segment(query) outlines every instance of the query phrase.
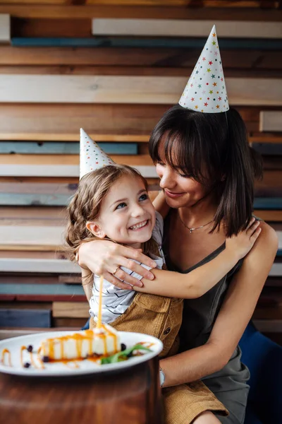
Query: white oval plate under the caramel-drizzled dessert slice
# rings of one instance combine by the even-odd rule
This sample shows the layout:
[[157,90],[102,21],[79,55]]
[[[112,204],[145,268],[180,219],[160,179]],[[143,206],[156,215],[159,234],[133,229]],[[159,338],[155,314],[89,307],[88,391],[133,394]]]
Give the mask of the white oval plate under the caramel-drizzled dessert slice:
[[[83,331],[77,331],[82,333]],[[73,331],[48,331],[46,333],[37,333],[37,334],[27,334],[26,336],[6,338],[6,340],[0,341],[0,355],[2,356],[3,349],[8,349],[11,352],[11,365],[8,365],[8,355],[4,357],[4,363],[1,363],[0,356],[0,372],[5,372],[6,374],[16,374],[16,375],[26,375],[28,377],[40,376],[40,377],[50,377],[50,376],[61,376],[61,375],[83,375],[83,374],[92,374],[97,372],[110,372],[114,370],[121,370],[123,368],[133,367],[139,363],[143,363],[154,356],[159,355],[163,349],[163,344],[158,338],[148,336],[147,334],[140,333],[129,333],[125,331],[119,331],[121,337],[121,343],[125,343],[127,348],[134,346],[137,343],[154,343],[150,346],[152,352],[145,352],[144,355],[133,356],[128,360],[125,360],[120,363],[105,364],[99,365],[94,363],[91,360],[80,360],[78,361],[78,368],[72,367],[72,363],[69,365],[63,363],[45,363],[44,369],[35,368],[30,366],[29,368],[22,367],[20,363],[20,348],[21,346],[33,346],[33,351],[37,351],[42,341],[46,338],[60,337],[67,334],[73,334]],[[145,345],[146,346],[146,345]],[[33,354],[33,359],[35,363],[37,362],[37,354]],[[30,353],[23,351],[23,363],[30,363]]]

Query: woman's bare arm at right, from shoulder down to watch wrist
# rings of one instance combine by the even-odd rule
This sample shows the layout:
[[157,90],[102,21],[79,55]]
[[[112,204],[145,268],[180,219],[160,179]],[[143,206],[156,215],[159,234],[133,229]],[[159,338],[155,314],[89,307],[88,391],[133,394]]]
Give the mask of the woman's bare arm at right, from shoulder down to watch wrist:
[[228,363],[250,321],[278,247],[276,232],[261,223],[262,234],[235,274],[209,340],[161,360],[166,375],[164,387],[192,382],[212,374]]

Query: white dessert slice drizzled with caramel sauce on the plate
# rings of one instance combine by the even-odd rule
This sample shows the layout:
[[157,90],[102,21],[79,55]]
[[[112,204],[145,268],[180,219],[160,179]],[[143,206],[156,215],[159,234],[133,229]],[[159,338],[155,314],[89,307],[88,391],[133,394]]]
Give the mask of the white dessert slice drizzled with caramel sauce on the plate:
[[47,338],[39,347],[44,362],[107,357],[121,351],[121,341],[113,327],[85,330],[61,337]]

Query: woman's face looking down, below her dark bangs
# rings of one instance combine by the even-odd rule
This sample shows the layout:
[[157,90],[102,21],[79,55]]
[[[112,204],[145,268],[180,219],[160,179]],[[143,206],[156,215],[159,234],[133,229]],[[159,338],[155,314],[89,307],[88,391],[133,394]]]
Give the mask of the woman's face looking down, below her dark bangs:
[[161,179],[160,187],[164,189],[168,206],[171,208],[194,206],[207,196],[209,193],[207,187],[170,167],[164,158],[161,160],[157,163],[156,170]]

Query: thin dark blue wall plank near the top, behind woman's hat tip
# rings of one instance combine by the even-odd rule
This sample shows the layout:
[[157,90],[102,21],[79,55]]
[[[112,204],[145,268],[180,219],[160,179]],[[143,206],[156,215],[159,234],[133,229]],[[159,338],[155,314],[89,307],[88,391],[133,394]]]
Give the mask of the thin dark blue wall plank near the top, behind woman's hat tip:
[[[209,28],[207,34],[211,30]],[[113,48],[128,49],[202,49],[207,37],[204,38],[137,38],[137,37],[97,37],[97,38],[73,38],[73,37],[12,37],[13,47],[80,47],[98,48],[105,45]],[[245,49],[245,50],[278,50],[281,49],[281,40],[266,39],[227,39],[220,40],[221,51],[223,49]]]

